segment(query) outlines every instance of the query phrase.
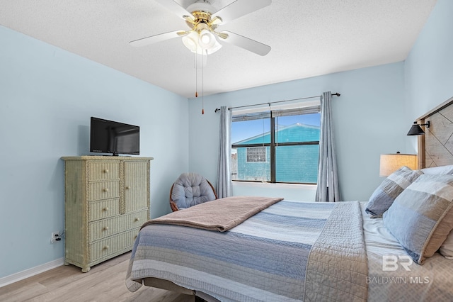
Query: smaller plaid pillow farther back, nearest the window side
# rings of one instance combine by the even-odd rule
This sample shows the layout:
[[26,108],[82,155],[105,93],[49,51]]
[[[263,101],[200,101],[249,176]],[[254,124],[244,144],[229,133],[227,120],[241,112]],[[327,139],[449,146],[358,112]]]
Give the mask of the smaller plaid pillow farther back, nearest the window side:
[[381,217],[401,192],[412,184],[423,172],[403,166],[389,175],[369,198],[365,212],[372,218]]

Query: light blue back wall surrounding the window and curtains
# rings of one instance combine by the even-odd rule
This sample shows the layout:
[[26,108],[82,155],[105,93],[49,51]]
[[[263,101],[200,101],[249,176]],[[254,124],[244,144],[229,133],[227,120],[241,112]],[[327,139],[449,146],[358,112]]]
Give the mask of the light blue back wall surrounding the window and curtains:
[[[263,72],[266,72],[263,69]],[[271,71],[269,71],[271,72]],[[379,155],[404,149],[408,124],[401,120],[404,104],[403,62],[350,72],[328,74],[253,89],[190,99],[190,169],[217,183],[217,150],[220,106],[242,106],[298,97],[316,96],[323,91],[340,92],[333,96],[335,140],[338,148],[340,189],[344,200],[368,200],[379,185]],[[410,126],[410,124],[409,124]],[[299,196],[287,186],[274,186],[273,195],[312,201],[314,191],[301,186]],[[255,185],[234,186],[234,194],[263,195]],[[290,195],[289,195],[290,194]]]

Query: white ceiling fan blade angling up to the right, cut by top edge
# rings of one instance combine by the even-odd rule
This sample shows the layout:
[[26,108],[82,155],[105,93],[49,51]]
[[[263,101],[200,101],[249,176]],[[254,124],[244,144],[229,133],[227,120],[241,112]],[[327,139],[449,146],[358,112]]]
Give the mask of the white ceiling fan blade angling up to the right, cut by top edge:
[[213,13],[212,18],[219,17],[222,19],[222,24],[224,24],[248,13],[253,13],[253,11],[258,11],[258,9],[263,9],[263,7],[270,5],[271,2],[272,0],[236,0],[220,11]]

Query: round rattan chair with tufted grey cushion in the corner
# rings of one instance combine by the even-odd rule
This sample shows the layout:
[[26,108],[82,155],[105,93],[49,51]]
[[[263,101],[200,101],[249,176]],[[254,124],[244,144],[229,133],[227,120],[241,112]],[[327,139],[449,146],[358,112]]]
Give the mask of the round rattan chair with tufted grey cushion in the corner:
[[170,206],[173,212],[214,199],[217,199],[214,186],[197,173],[180,174],[170,189]]

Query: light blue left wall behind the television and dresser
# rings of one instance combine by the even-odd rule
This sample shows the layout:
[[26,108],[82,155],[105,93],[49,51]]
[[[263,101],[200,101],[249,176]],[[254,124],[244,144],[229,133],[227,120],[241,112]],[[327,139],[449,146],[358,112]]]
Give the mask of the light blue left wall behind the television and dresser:
[[140,126],[151,217],[188,170],[188,99],[0,26],[0,278],[64,257],[62,156],[89,154],[90,116]]

